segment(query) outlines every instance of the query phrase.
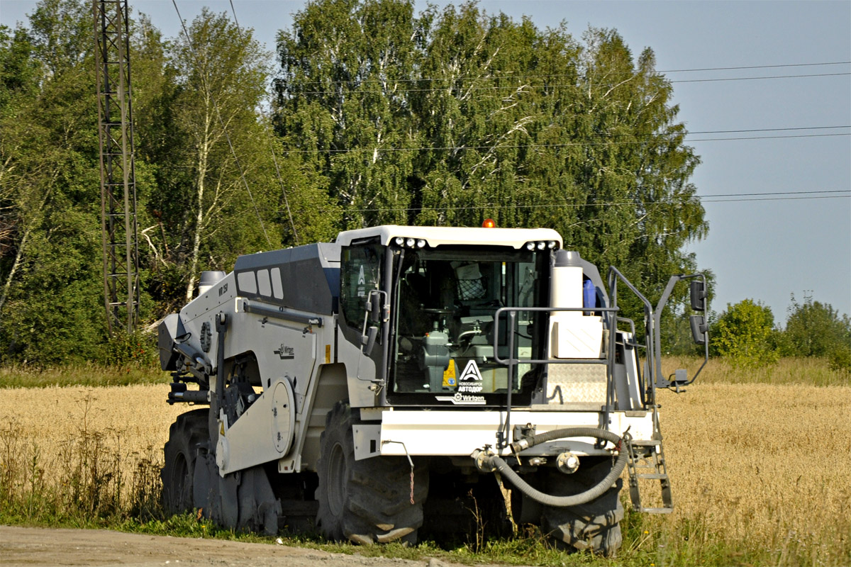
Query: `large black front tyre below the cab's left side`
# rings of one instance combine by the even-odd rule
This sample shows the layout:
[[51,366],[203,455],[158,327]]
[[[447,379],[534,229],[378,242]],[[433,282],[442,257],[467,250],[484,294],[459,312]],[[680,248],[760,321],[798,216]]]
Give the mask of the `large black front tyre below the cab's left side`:
[[403,456],[374,456],[355,461],[351,431],[359,420],[348,404],[328,412],[320,438],[317,527],[328,539],[368,545],[379,541],[414,544],[423,523],[428,471],[411,468]]

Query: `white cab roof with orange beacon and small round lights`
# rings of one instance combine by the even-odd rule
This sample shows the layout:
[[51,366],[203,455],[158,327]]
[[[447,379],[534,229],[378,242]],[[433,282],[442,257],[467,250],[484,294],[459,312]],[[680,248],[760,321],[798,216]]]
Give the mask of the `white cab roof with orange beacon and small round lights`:
[[444,244],[477,246],[505,246],[521,248],[529,241],[556,241],[562,247],[562,236],[552,229],[484,229],[477,227],[455,226],[399,226],[383,224],[368,229],[346,230],[340,232],[336,243],[348,246],[353,241],[364,241],[378,237],[383,245],[388,245],[397,236],[425,240],[429,247]]

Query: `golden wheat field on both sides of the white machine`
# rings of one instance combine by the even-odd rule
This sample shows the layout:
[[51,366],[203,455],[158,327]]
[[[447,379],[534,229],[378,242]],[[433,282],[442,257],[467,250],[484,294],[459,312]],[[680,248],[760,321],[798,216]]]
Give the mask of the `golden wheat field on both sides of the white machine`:
[[[169,424],[189,409],[165,402],[165,384],[2,392],[0,465],[37,461],[48,484],[84,439],[125,479],[140,462],[158,467]],[[851,564],[851,387],[704,383],[658,401],[676,509],[645,533],[739,542],[777,564]]]

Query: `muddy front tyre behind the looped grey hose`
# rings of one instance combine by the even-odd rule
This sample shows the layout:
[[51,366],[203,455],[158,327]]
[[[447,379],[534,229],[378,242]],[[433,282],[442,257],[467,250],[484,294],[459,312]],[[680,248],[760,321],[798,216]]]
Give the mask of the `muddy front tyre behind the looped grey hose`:
[[[612,468],[611,459],[603,459],[589,468],[574,474],[557,470],[545,473],[547,492],[554,496],[568,496],[597,485]],[[612,488],[593,502],[571,507],[545,506],[541,512],[541,529],[557,543],[568,548],[588,549],[605,557],[614,557],[620,549],[620,520],[624,507],[620,503],[623,480],[617,479]]]

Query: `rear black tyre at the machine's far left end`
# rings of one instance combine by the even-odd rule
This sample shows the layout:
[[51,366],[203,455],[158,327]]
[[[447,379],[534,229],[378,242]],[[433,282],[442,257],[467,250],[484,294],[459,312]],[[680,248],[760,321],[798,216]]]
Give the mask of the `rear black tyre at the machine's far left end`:
[[168,441],[163,452],[165,464],[160,471],[163,479],[163,509],[168,514],[188,512],[194,507],[192,479],[198,445],[208,442],[208,410],[180,414],[168,429]]

